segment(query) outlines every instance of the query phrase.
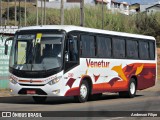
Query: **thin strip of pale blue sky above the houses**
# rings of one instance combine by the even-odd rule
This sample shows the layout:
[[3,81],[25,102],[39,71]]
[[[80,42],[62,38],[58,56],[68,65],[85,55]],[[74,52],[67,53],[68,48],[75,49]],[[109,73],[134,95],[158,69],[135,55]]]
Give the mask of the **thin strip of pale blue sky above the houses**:
[[120,1],[120,2],[127,2],[129,4],[133,4],[133,3],[141,3],[141,4],[145,4],[145,3],[153,3],[153,2],[157,2],[160,0],[116,0],[116,1]]

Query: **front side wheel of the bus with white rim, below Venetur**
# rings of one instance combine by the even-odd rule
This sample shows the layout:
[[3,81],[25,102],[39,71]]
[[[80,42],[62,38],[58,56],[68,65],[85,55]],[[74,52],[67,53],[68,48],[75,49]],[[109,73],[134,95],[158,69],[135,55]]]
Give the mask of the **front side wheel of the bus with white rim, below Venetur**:
[[80,85],[79,90],[80,90],[79,91],[80,95],[74,97],[76,102],[80,102],[80,103],[86,102],[89,96],[89,86],[86,80],[82,81],[82,84]]

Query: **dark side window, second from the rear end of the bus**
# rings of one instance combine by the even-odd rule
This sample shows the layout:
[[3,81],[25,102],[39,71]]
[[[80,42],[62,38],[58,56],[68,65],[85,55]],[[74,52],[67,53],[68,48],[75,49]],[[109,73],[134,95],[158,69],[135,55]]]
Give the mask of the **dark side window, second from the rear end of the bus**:
[[149,59],[149,46],[148,46],[148,42],[145,41],[140,41],[139,42],[139,56],[140,59]]

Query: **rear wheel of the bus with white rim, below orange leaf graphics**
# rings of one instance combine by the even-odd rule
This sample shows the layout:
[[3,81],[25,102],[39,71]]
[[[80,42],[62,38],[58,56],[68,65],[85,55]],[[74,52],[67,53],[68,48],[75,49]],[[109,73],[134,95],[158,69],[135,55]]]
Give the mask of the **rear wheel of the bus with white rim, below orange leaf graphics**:
[[119,92],[120,97],[133,98],[136,95],[136,81],[134,78],[131,78],[129,82],[128,91]]

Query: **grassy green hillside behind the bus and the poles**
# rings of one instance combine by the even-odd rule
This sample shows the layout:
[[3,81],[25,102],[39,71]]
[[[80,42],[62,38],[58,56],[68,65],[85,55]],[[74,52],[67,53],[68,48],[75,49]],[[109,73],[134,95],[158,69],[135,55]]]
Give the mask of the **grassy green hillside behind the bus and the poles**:
[[[6,6],[6,3],[4,3]],[[13,3],[12,5],[13,6]],[[24,6],[24,3],[22,3]],[[36,8],[27,4],[27,25],[36,25]],[[4,12],[4,11],[3,11]],[[80,25],[80,9],[72,8],[65,9],[65,24]],[[39,24],[41,24],[41,9],[39,8]],[[43,17],[44,18],[44,17]],[[60,10],[47,9],[46,24],[60,24]],[[22,26],[24,26],[24,19],[21,19]],[[17,22],[18,24],[18,22]],[[9,25],[14,25],[14,21],[10,21]],[[102,28],[102,9],[101,6],[85,6],[85,26],[91,28]],[[129,32],[136,34],[151,35],[156,37],[157,43],[160,43],[160,13],[153,15],[146,15],[139,13],[136,15],[122,15],[118,13],[111,13],[111,11],[104,12],[104,29]],[[160,45],[159,45],[160,46]]]

